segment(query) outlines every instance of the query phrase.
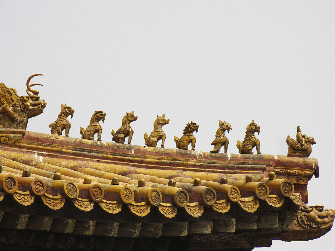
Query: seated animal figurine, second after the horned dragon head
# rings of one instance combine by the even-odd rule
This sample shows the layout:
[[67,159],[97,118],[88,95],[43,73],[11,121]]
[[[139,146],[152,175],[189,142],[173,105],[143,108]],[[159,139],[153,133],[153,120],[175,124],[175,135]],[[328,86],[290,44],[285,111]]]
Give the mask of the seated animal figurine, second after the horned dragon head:
[[94,134],[98,134],[97,141],[101,141],[101,133],[103,132],[102,126],[100,126],[99,121],[103,120],[105,123],[106,113],[103,111],[95,111],[95,113],[91,117],[91,121],[89,122],[88,127],[84,130],[80,127],[80,134],[82,135],[82,139],[86,140],[94,140]]

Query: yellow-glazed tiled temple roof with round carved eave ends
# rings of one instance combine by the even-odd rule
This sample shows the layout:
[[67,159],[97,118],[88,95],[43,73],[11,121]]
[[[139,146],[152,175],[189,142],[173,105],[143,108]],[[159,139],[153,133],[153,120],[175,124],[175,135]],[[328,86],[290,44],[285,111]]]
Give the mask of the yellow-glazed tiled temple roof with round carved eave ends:
[[[26,217],[21,226],[2,220],[0,227],[113,237],[119,246],[120,238],[150,238],[150,245],[157,244],[155,238],[188,238],[189,250],[222,249],[222,241],[242,238],[225,247],[251,250],[273,239],[318,238],[334,220],[334,210],[323,207],[329,221],[314,227],[306,220],[304,212],[321,212],[306,206],[308,181],[318,177],[313,158],[57,139],[14,129],[0,133],[0,211],[8,219]],[[106,232],[107,225],[114,232]]]

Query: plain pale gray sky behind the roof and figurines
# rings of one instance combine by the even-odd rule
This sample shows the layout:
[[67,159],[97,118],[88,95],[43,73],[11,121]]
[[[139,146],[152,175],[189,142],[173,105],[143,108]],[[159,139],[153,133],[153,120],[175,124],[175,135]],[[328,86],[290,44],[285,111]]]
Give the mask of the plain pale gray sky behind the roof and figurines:
[[[286,155],[296,126],[313,136],[320,178],[308,205],[335,207],[333,178],[334,1],[4,1],[0,82],[25,95],[27,78],[46,99],[27,130],[50,133],[61,103],[75,113],[70,137],[95,110],[107,113],[102,140],[135,111],[132,144],[144,145],[165,113],[165,147],[190,120],[196,150],[210,151],[218,119],[229,122],[229,153],[255,120],[262,154]],[[334,230],[308,242],[262,250],[333,250]],[[255,249],[258,250],[258,249]]]

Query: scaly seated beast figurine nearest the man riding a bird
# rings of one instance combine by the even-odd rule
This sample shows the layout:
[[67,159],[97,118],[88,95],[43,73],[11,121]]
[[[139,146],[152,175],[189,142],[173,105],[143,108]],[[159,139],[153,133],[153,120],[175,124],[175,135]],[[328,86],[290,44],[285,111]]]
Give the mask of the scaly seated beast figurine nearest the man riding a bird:
[[258,126],[254,120],[247,126],[246,136],[244,140],[237,141],[237,148],[240,150],[240,154],[254,154],[252,149],[256,147],[257,154],[261,154],[259,151],[260,141],[255,137],[255,133],[257,132],[259,135],[260,126]]

